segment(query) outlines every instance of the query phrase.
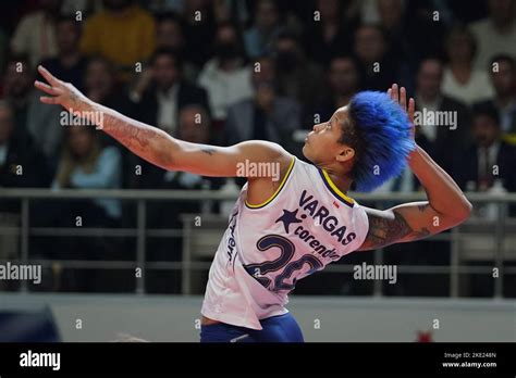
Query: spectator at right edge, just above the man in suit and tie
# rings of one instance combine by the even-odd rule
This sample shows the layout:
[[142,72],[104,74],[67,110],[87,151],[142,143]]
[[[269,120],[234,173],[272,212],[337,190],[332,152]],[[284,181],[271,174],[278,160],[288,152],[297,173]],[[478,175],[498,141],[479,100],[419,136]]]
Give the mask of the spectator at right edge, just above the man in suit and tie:
[[500,128],[503,138],[511,144],[516,144],[516,61],[506,54],[493,56],[491,66],[491,83],[495,96],[486,103],[494,106],[500,116]]

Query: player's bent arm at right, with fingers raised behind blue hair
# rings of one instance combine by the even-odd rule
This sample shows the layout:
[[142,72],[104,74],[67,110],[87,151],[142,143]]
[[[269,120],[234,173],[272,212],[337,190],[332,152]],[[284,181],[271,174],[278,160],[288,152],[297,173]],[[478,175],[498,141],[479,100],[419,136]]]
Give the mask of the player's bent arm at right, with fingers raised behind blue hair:
[[[408,113],[414,125],[414,99],[406,101],[405,88],[394,85],[394,101]],[[369,232],[359,250],[372,250],[398,242],[414,241],[452,228],[469,217],[471,203],[460,188],[419,146],[410,153],[408,165],[417,176],[428,201],[405,203],[390,210],[366,209]]]

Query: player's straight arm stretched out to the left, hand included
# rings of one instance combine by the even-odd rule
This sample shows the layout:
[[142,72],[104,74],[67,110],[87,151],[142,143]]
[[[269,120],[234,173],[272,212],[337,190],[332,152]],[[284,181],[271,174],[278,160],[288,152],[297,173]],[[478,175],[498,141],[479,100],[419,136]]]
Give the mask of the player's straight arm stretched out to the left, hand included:
[[271,142],[246,141],[223,148],[179,140],[159,128],[95,103],[73,85],[59,80],[42,66],[39,66],[38,71],[48,84],[36,81],[35,86],[50,96],[41,97],[41,102],[60,104],[90,122],[101,119],[101,124],[97,126],[105,133],[138,156],[164,169],[202,176],[234,177],[242,175],[238,172],[238,163],[245,163],[246,160],[249,163],[277,162],[282,166],[290,164],[291,158],[286,151]]

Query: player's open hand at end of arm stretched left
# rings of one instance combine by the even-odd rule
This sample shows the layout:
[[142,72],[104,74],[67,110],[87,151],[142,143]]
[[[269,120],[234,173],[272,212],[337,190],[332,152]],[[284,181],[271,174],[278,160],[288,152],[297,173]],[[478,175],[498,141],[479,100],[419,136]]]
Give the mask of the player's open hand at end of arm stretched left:
[[36,80],[34,86],[50,94],[39,98],[42,103],[62,105],[69,112],[84,112],[91,108],[91,101],[72,84],[58,79],[41,65],[38,66],[38,72],[48,84]]

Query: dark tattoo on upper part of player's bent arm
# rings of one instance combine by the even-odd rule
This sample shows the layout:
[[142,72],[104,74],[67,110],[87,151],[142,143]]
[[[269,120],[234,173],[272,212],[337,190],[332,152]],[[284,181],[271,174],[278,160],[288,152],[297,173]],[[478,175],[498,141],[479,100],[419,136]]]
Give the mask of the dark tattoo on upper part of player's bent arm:
[[[419,211],[425,211],[427,205],[419,205]],[[382,248],[395,242],[417,240],[430,235],[428,228],[413,229],[404,216],[393,211],[394,218],[386,218],[374,214],[368,214],[369,231],[366,242],[368,249]]]

